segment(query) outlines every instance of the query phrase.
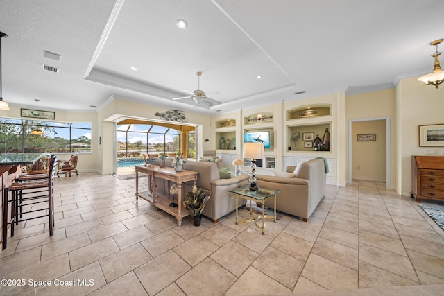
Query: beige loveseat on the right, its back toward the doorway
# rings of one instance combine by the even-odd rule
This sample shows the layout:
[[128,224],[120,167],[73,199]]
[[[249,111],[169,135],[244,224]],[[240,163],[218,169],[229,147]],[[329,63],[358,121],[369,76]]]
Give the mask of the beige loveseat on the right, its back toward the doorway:
[[[257,175],[257,186],[279,189],[276,209],[307,222],[325,195],[327,173],[328,166],[323,159],[311,159],[298,166],[287,166],[285,172],[273,176]],[[273,208],[273,200],[268,199],[265,206]]]

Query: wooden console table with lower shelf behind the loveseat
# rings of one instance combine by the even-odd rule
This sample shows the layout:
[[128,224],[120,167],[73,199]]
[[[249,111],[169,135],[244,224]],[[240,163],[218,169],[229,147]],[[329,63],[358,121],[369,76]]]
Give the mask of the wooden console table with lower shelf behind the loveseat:
[[[182,225],[182,218],[188,215],[191,215],[191,211],[185,209],[182,204],[182,183],[187,181],[194,181],[194,185],[196,185],[197,180],[197,172],[194,171],[186,171],[183,170],[181,172],[174,171],[173,168],[160,168],[159,166],[135,166],[136,169],[136,200],[138,198],[143,198],[147,200],[154,207],[162,209],[168,214],[175,216],[178,219],[178,225]],[[143,191],[139,192],[139,173],[143,173],[148,175],[148,178],[151,177],[151,188],[152,191]],[[176,182],[178,184],[178,206],[170,207],[169,204],[171,200],[164,195],[157,195],[155,193],[155,180],[156,178],[169,180],[172,182]],[[149,182],[148,182],[149,186]]]

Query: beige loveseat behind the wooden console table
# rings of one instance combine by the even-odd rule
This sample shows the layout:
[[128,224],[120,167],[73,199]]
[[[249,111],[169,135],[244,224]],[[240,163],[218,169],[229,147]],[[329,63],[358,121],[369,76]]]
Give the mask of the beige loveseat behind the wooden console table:
[[[156,164],[158,159],[156,159]],[[171,159],[165,159],[165,166],[171,167]],[[228,192],[239,186],[248,184],[249,175],[240,175],[230,179],[221,179],[219,168],[215,162],[195,162],[188,161],[183,165],[184,170],[198,172],[196,186],[210,191],[210,200],[205,204],[203,216],[206,216],[217,223],[219,218],[229,214],[236,209],[236,197],[234,193]],[[156,182],[157,192],[165,192],[162,182]],[[194,182],[186,182],[182,187],[185,192],[191,191]],[[244,200],[238,201],[238,207],[245,204]]]

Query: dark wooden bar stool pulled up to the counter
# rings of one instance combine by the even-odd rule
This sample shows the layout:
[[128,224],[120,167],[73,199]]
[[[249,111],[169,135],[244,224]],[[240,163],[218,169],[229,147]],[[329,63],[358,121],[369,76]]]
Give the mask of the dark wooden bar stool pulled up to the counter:
[[[49,235],[53,235],[54,226],[54,175],[56,174],[56,159],[55,155],[51,155],[49,162],[49,172],[46,178],[34,180],[20,180],[12,183],[9,187],[3,189],[3,249],[6,249],[8,238],[8,225],[11,225],[11,237],[14,236],[15,225],[19,222],[42,218],[49,216]],[[17,178],[18,180],[19,178]],[[11,198],[9,199],[9,192]],[[33,205],[48,203],[48,207],[33,209]],[[10,209],[10,216],[8,215],[8,208]],[[24,212],[23,206],[31,206],[31,208]],[[39,211],[44,211],[40,216],[31,216],[23,218],[26,214],[31,214]],[[10,217],[10,220],[8,220]]]

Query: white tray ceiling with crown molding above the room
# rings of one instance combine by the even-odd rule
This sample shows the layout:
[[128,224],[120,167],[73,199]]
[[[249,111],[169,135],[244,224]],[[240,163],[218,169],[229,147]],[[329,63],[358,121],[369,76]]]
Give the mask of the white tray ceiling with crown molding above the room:
[[[215,114],[384,89],[432,71],[443,15],[442,0],[1,0],[3,98],[94,111],[117,96]],[[172,100],[198,89],[197,71],[221,105]]]

